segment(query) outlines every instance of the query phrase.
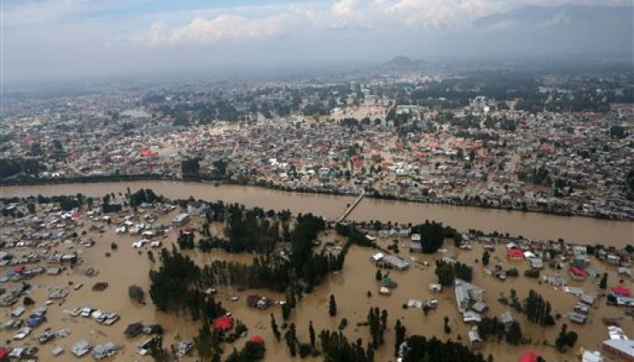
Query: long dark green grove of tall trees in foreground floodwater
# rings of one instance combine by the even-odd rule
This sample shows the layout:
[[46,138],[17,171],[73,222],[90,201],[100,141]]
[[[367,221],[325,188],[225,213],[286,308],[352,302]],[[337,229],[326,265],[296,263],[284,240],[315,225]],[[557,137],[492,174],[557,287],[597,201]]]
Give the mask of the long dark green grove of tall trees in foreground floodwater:
[[[240,288],[267,288],[288,291],[303,288],[311,291],[331,271],[339,271],[345,260],[345,252],[338,255],[312,252],[312,243],[325,227],[321,218],[311,214],[298,217],[291,237],[290,257],[269,252],[254,258],[254,262],[214,261],[202,269],[187,255],[175,247],[172,252],[160,252],[161,266],[150,271],[150,297],[159,310],[182,310],[196,304],[197,300],[183,298],[202,289],[203,286],[233,285]],[[192,234],[178,237],[181,246],[193,244]]]

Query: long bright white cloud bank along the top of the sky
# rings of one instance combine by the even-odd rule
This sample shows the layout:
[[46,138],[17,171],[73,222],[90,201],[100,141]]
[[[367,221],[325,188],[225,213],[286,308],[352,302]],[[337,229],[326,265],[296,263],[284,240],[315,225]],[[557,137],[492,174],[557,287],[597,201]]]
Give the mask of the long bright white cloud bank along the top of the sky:
[[330,8],[289,5],[274,14],[197,16],[188,24],[152,24],[134,37],[149,45],[262,40],[286,33],[353,27],[366,31],[397,28],[464,27],[478,16],[503,9],[498,0],[339,0]]

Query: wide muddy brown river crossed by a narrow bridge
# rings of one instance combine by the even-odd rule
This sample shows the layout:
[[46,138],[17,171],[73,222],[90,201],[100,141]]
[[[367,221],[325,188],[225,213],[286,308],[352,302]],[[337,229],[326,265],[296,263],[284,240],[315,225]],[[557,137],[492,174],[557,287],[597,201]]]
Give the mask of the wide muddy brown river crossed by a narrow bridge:
[[[187,198],[209,201],[223,200],[247,207],[264,209],[290,209],[293,213],[320,214],[328,219],[337,218],[354,197],[299,194],[270,190],[254,186],[212,186],[172,181],[135,181],[97,184],[66,184],[47,186],[3,186],[0,196],[25,195],[84,195],[101,196],[105,193],[151,188],[169,198]],[[634,223],[592,219],[579,216],[524,213],[484,209],[477,207],[408,203],[403,201],[365,198],[350,214],[355,221],[380,220],[392,223],[418,224],[426,219],[451,225],[457,230],[478,229],[484,232],[510,233],[527,238],[556,240],[562,238],[577,243],[602,243],[623,246],[634,243]]]

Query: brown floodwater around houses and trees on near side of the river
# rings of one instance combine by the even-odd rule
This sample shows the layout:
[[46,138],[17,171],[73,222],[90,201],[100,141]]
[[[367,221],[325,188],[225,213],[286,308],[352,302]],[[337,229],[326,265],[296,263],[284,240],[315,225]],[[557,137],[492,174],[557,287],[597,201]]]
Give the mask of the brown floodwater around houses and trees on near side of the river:
[[[309,197],[313,196],[310,195]],[[168,223],[174,214],[175,212],[164,215],[158,222]],[[197,219],[191,222],[191,224],[197,223]],[[84,229],[88,230],[90,224],[90,222],[86,222]],[[41,348],[40,356],[43,357],[43,360],[49,360],[49,358],[60,361],[77,360],[77,358],[72,357],[69,348],[80,339],[88,339],[93,344],[113,341],[122,347],[123,349],[117,357],[110,358],[110,360],[150,360],[149,357],[140,357],[136,352],[137,345],[147,337],[141,336],[130,339],[126,338],[123,334],[124,329],[126,329],[129,323],[137,321],[159,323],[164,326],[166,329],[166,344],[174,343],[174,341],[179,338],[191,339],[197,336],[197,330],[200,328],[199,322],[193,322],[184,315],[177,316],[155,310],[148,295],[148,271],[158,266],[159,263],[149,262],[147,256],[149,246],[146,246],[146,249],[132,249],[130,244],[137,241],[139,236],[115,233],[115,224],[116,223],[107,225],[103,233],[95,231],[88,232],[88,236],[93,238],[96,243],[92,247],[77,247],[77,251],[81,252],[82,263],[72,269],[66,269],[60,275],[40,275],[30,281],[36,287],[31,294],[31,297],[35,300],[35,305],[27,310],[42,306],[43,302],[47,300],[47,289],[51,287],[67,287],[70,281],[73,283],[82,282],[84,284],[83,288],[79,291],[73,291],[71,288],[70,294],[62,304],[53,303],[50,305],[47,315],[48,322],[35,329],[32,335],[26,339],[26,344],[37,346],[38,344],[34,338],[39,335],[44,328],[50,327],[53,328],[53,330],[62,328],[72,329],[72,334],[69,337],[57,338],[47,345],[39,346]],[[222,233],[223,224],[213,224],[212,229],[215,234]],[[163,239],[163,244],[170,247],[171,243],[176,243],[177,235],[178,233],[176,231],[169,233],[168,237]],[[322,233],[320,240],[322,242],[344,243],[341,237],[333,232]],[[110,243],[117,243],[119,246],[118,249],[111,250]],[[392,239],[379,238],[380,245],[385,246],[388,243],[392,243]],[[401,255],[404,257],[409,256],[407,246],[407,239],[399,240],[399,247],[402,251]],[[378,282],[375,280],[377,268],[374,263],[370,261],[370,255],[374,250],[360,246],[352,246],[346,258],[343,270],[340,273],[330,275],[320,286],[315,288],[312,293],[304,295],[303,300],[298,302],[297,308],[293,310],[289,323],[294,322],[296,324],[297,337],[300,341],[306,342],[308,341],[308,325],[311,320],[314,329],[319,332],[321,329],[337,329],[341,319],[346,318],[349,323],[348,327],[344,329],[344,333],[348,338],[352,340],[363,338],[363,340],[367,342],[370,338],[369,329],[367,327],[358,327],[357,323],[366,320],[370,307],[379,307],[380,309],[388,310],[389,329],[385,335],[386,342],[384,346],[379,348],[375,355],[375,360],[381,362],[396,360],[394,357],[393,330],[396,319],[401,319],[401,322],[407,328],[408,335],[422,334],[427,337],[437,336],[443,339],[451,338],[453,340],[461,339],[465,341],[469,326],[461,320],[458,314],[453,288],[439,293],[428,291],[428,284],[436,281],[433,267],[434,262],[443,256],[449,256],[474,266],[473,283],[485,289],[485,302],[490,307],[490,310],[485,314],[487,316],[499,316],[504,311],[511,310],[510,307],[497,301],[500,295],[508,296],[511,289],[517,291],[520,300],[523,300],[531,289],[538,291],[543,295],[545,300],[549,300],[552,303],[552,314],[560,313],[562,315],[562,320],[558,321],[555,327],[543,328],[533,325],[524,315],[513,311],[515,319],[519,320],[522,325],[524,338],[532,340],[532,343],[512,347],[499,344],[495,340],[485,342],[482,352],[485,355],[489,353],[492,354],[495,357],[495,361],[514,361],[522,351],[529,349],[545,357],[549,362],[564,361],[566,359],[575,360],[574,351],[576,351],[577,348],[600,349],[601,341],[608,338],[606,328],[601,322],[602,317],[623,315],[624,310],[606,306],[605,300],[600,299],[591,310],[588,323],[583,326],[574,325],[568,321],[566,316],[576,303],[576,297],[564,293],[559,288],[540,283],[537,280],[525,278],[524,276],[520,276],[516,279],[509,278],[507,281],[496,280],[485,272],[485,269],[480,263],[475,262],[480,259],[483,252],[478,243],[474,243],[474,249],[471,251],[457,250],[453,247],[453,243],[450,242],[447,242],[446,246],[447,252],[439,252],[431,255],[411,255],[420,263],[412,263],[412,267],[410,267],[408,271],[390,271],[390,277],[399,284],[399,287],[395,289],[390,296],[380,296],[377,292],[379,288]],[[14,251],[19,252],[18,249],[14,249]],[[106,253],[110,253],[110,256],[106,256]],[[226,252],[218,251],[209,253],[187,251],[186,253],[200,265],[216,259],[250,262],[253,258],[253,255],[250,254],[227,254]],[[424,266],[424,262],[427,262],[428,266]],[[504,269],[511,267],[517,268],[520,274],[522,274],[528,266],[526,262],[507,261],[503,245],[496,247],[491,258],[490,266],[497,262],[503,263]],[[93,277],[84,276],[82,270],[87,267],[97,269],[99,274]],[[615,267],[611,267],[605,263],[594,264],[594,267],[610,272],[610,276],[613,276],[610,279],[610,284],[616,282]],[[543,274],[552,274],[555,272],[556,271],[547,267],[543,271]],[[565,271],[560,271],[560,273],[566,274]],[[97,281],[107,281],[110,285],[105,291],[91,291],[91,286]],[[146,300],[148,300],[146,305],[141,305],[130,300],[128,297],[128,287],[132,284],[139,285],[146,291]],[[624,281],[624,284],[629,288],[634,286],[632,281]],[[601,292],[600,289],[590,281],[571,281],[570,285],[580,286],[585,291],[592,293],[600,294]],[[370,291],[371,297],[368,297],[368,291]],[[227,287],[218,288],[216,298],[217,300],[223,301],[223,305],[233,312],[236,319],[245,322],[249,329],[247,336],[261,335],[264,337],[266,341],[265,361],[276,362],[292,359],[283,340],[276,342],[270,329],[270,313],[274,313],[278,324],[281,325],[283,322],[281,310],[275,306],[269,310],[256,310],[247,307],[245,299],[251,294],[265,295],[273,300],[283,300],[283,295],[271,291],[236,291],[235,289]],[[328,299],[331,294],[335,295],[337,300],[338,314],[336,317],[330,317],[328,314]],[[234,296],[240,297],[239,300],[231,301],[231,297]],[[425,300],[426,298],[437,299],[437,310],[429,311],[427,316],[425,316],[420,309],[406,310],[402,305],[410,298],[418,300]],[[72,318],[70,316],[69,310],[84,306],[116,312],[120,315],[121,319],[109,327],[97,324],[92,319],[83,319],[81,317]],[[13,310],[13,308],[3,308],[0,310],[1,319],[8,320],[11,310]],[[446,316],[450,319],[449,325],[452,329],[449,335],[445,334],[443,330],[443,318]],[[556,352],[554,348],[543,345],[544,340],[552,345],[559,333],[562,322],[567,323],[570,329],[575,330],[579,334],[579,340],[575,350],[567,354],[560,354]],[[632,322],[630,318],[624,319],[623,329],[629,336],[634,336],[634,322]],[[2,333],[4,340],[10,339],[13,334],[9,334],[9,332]],[[246,338],[238,339],[235,342],[235,347],[241,348],[245,340]],[[20,342],[13,343],[18,345],[17,343]],[[66,351],[61,357],[53,358],[51,357],[51,351],[57,346],[63,346]],[[225,345],[224,349],[227,354],[231,351],[231,346]],[[185,360],[196,359],[196,357],[185,358]],[[299,360],[299,358],[297,358],[297,360]],[[322,359],[314,358],[313,360]]]

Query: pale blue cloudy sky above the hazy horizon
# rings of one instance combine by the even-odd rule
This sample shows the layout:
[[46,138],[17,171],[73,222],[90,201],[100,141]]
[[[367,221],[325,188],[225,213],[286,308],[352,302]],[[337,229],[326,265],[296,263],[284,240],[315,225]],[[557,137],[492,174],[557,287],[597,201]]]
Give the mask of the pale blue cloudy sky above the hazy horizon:
[[[576,15],[561,10],[543,15],[536,24],[530,24],[537,32],[530,34],[525,33],[526,24],[519,18],[493,19],[484,28],[475,26],[476,20],[491,14],[512,14],[529,5],[631,6],[630,0],[0,0],[0,3],[5,83],[267,64],[371,63],[399,54],[424,59],[513,56],[528,52],[526,46],[517,44],[524,43],[523,36],[535,38],[535,34],[546,28],[570,27],[577,21]],[[618,26],[612,27],[616,33],[608,35],[616,34],[622,43],[631,43],[631,32],[628,34],[627,28],[624,31],[622,24]],[[575,33],[578,31],[575,29]],[[529,48],[537,47],[535,52],[544,56],[551,51],[553,55],[566,51],[565,46],[562,51],[563,43],[572,44],[570,52],[587,45],[583,43],[587,40],[581,38],[563,38],[562,44],[542,49],[539,47],[543,40],[526,41]],[[609,51],[614,51],[613,48]]]

